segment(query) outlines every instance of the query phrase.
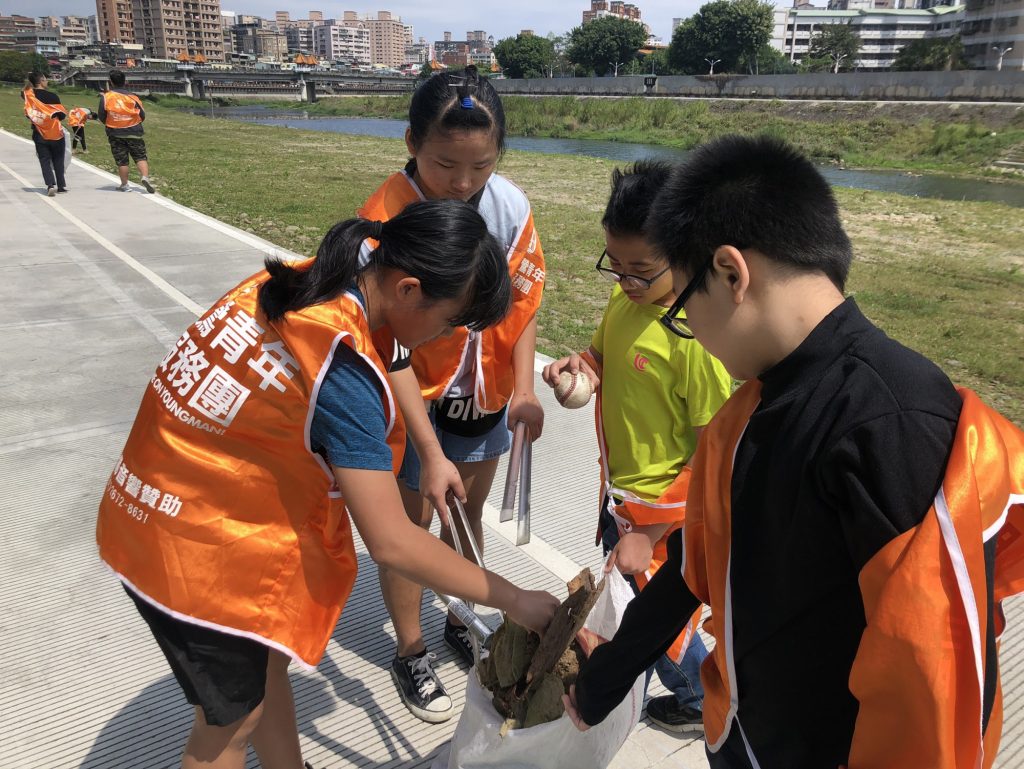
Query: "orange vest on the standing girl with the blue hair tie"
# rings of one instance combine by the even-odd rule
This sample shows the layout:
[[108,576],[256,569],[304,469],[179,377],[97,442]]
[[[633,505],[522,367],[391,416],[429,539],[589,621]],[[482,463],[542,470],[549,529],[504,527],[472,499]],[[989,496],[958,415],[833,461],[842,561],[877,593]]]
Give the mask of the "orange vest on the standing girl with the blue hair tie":
[[[359,209],[358,215],[366,219],[387,221],[410,203],[421,200],[426,200],[423,193],[413,178],[401,171],[385,179]],[[534,228],[534,214],[526,196],[508,179],[498,174],[490,177],[484,187],[479,211],[493,233],[496,222],[515,227],[511,242],[498,236],[499,242],[508,249],[512,309],[500,324],[478,333],[475,361],[464,359],[471,332],[463,328],[456,329],[450,337],[438,337],[414,349],[412,362],[426,400],[444,397],[463,368],[472,365],[476,382],[475,405],[483,413],[493,414],[501,411],[512,396],[515,384],[512,349],[541,306],[544,252]]]

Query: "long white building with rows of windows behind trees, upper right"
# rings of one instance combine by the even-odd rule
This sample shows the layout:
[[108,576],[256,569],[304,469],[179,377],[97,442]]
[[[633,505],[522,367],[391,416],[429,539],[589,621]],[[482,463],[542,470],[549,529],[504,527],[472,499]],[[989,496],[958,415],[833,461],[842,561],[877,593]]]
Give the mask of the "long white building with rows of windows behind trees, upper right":
[[776,8],[772,45],[799,63],[821,27],[850,25],[861,40],[860,52],[852,67],[862,71],[889,70],[896,54],[908,43],[957,34],[964,23],[964,10],[963,5],[927,9]]

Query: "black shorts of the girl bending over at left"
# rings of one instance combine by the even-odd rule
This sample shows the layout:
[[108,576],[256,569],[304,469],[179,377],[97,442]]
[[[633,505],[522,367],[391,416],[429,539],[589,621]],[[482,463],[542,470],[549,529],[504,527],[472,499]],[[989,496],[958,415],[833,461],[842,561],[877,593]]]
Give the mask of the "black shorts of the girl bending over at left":
[[189,704],[210,726],[227,726],[263,701],[269,649],[258,641],[171,616],[127,586]]

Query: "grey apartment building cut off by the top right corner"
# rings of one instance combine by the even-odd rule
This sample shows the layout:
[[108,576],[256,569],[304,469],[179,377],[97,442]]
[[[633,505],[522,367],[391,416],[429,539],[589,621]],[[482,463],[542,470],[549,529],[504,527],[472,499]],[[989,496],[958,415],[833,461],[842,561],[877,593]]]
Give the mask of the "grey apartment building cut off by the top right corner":
[[1024,0],[967,0],[961,39],[972,67],[1024,71]]

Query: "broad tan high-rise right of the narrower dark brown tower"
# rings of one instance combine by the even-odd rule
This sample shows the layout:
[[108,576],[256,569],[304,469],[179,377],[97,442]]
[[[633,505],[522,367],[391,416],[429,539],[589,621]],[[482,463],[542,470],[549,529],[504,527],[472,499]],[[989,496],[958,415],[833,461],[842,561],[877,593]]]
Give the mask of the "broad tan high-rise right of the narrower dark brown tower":
[[135,40],[151,56],[224,60],[220,0],[132,0],[132,14]]

